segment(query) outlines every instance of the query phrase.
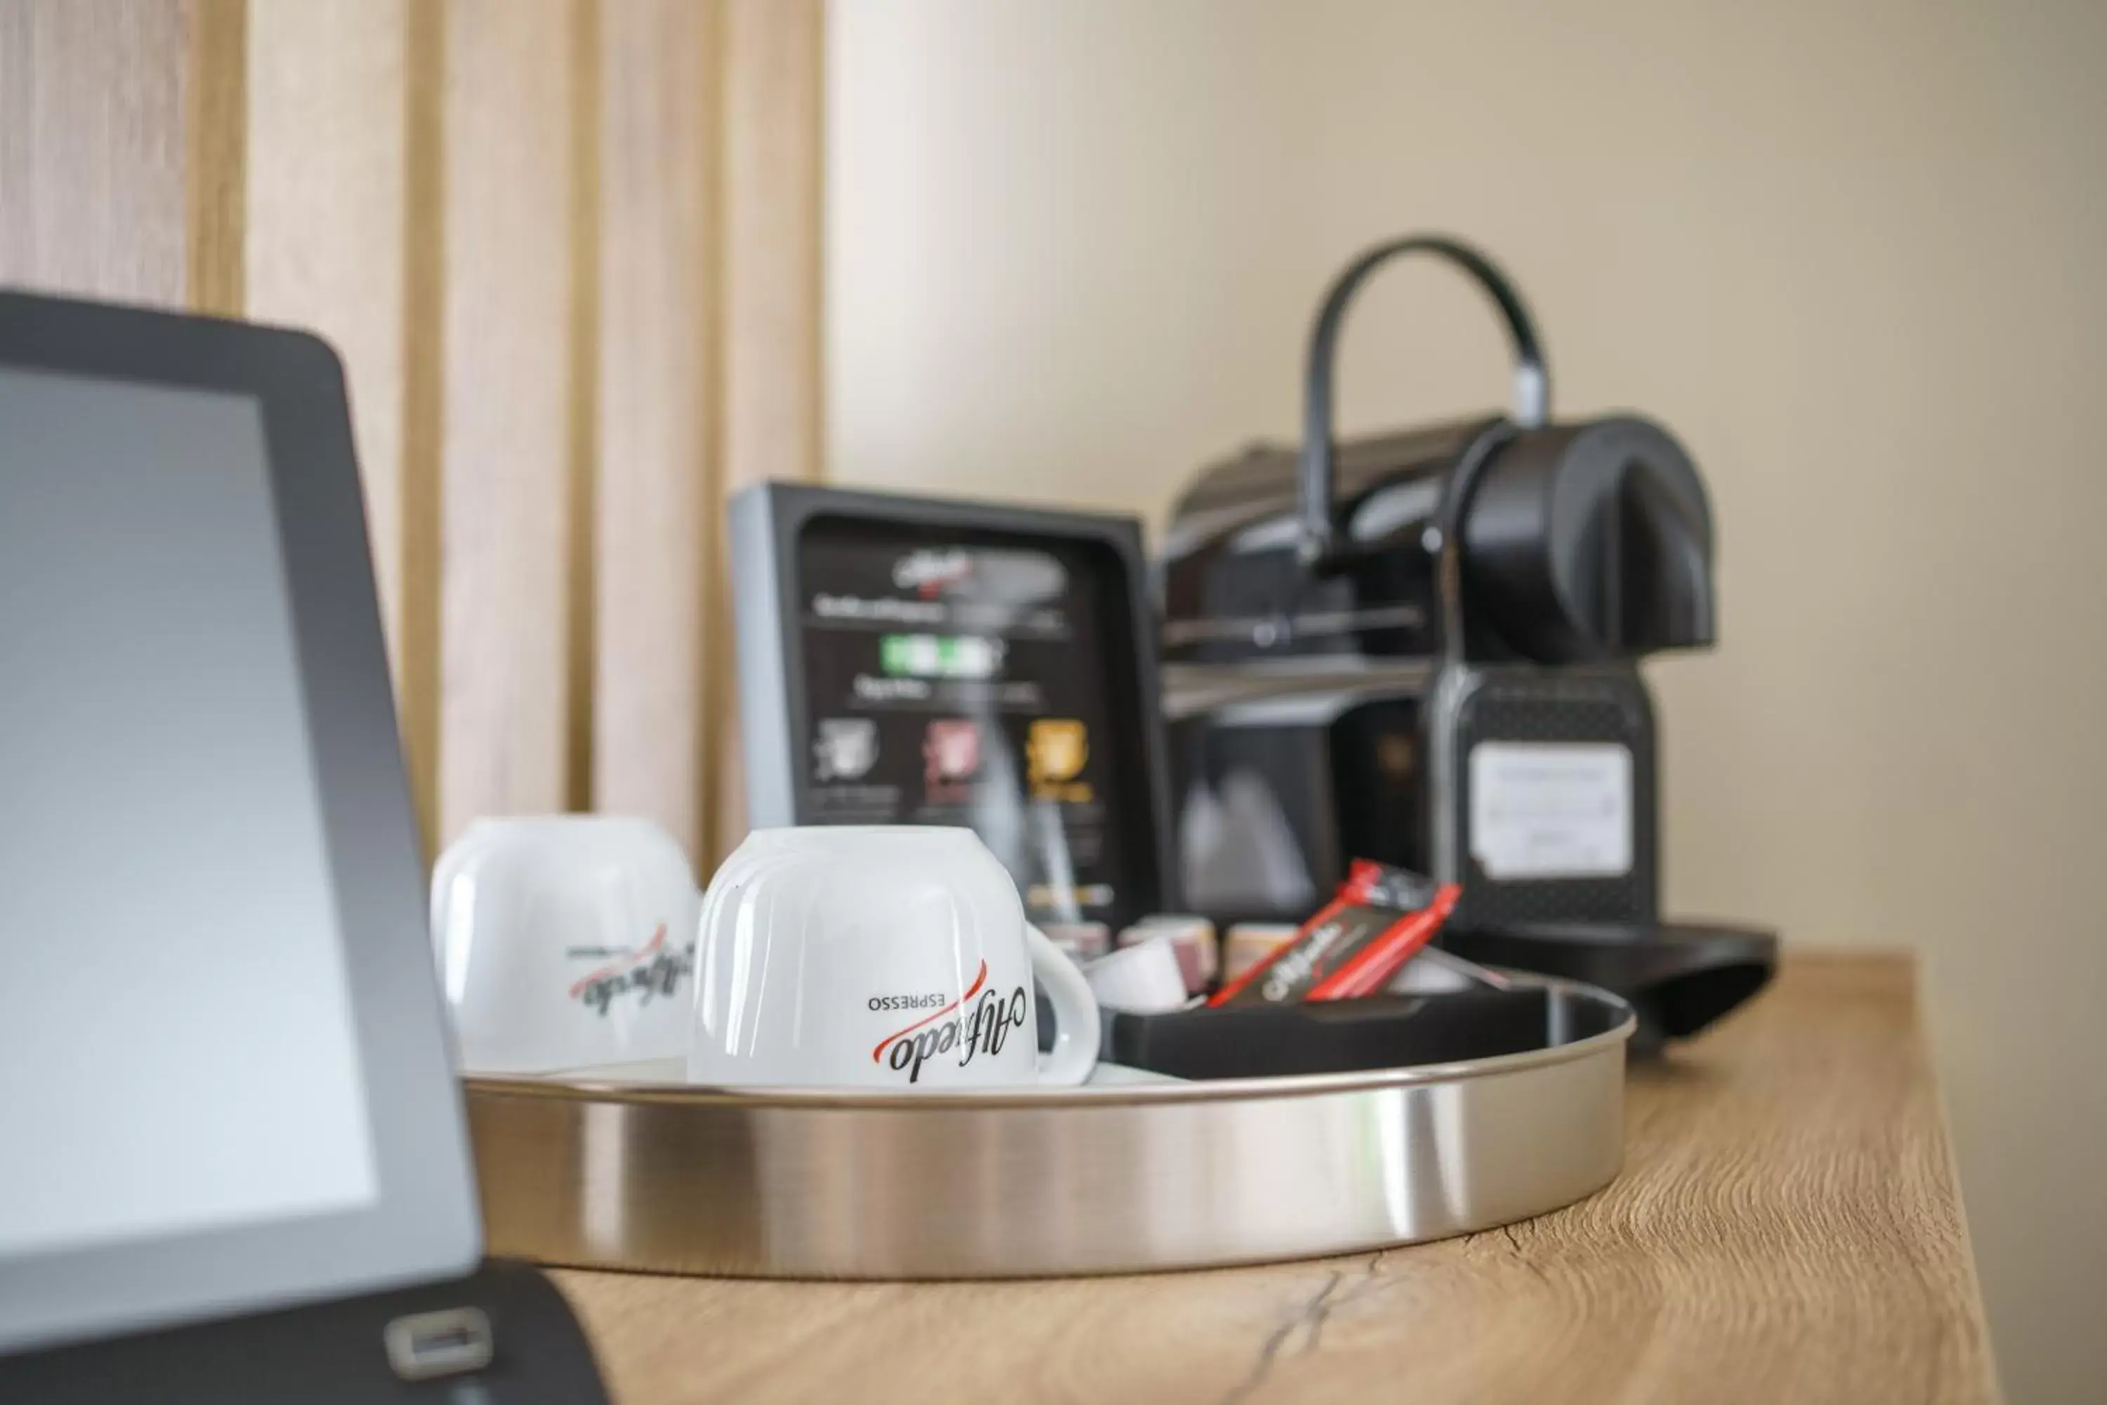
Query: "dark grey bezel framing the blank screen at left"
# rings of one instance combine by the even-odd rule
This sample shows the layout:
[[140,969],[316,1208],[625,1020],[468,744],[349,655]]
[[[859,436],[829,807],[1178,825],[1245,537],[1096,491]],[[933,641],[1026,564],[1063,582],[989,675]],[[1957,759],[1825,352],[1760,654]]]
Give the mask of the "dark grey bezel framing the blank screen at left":
[[261,409],[379,1184],[360,1211],[8,1260],[0,1352],[470,1272],[483,1222],[337,354],[297,331],[0,293],[0,369]]

